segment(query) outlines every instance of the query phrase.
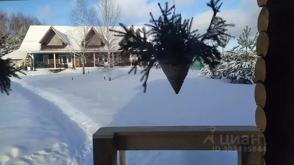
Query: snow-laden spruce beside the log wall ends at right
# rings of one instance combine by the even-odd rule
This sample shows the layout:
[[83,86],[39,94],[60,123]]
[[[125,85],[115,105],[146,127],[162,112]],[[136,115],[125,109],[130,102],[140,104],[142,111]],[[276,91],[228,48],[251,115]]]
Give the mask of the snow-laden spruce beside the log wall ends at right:
[[243,33],[237,39],[238,46],[232,50],[225,51],[219,65],[214,69],[209,69],[208,65],[204,66],[199,75],[205,75],[213,79],[228,79],[230,83],[235,84],[254,84],[255,63],[258,58],[256,55],[255,37],[250,37],[250,28],[246,26]]

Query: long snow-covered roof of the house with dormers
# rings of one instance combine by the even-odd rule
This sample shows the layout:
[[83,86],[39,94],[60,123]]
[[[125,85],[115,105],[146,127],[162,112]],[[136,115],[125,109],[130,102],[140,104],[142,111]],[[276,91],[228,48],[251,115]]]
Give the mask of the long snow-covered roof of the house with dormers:
[[[28,32],[26,33],[26,36],[21,43],[21,46],[19,48],[19,52],[26,52],[26,53],[34,53],[34,52],[68,52],[69,49],[75,48],[75,51],[78,51],[79,44],[81,44],[82,37],[81,34],[77,31],[77,29],[81,29],[81,26],[44,26],[44,25],[34,25],[30,26]],[[130,27],[128,27],[130,28]],[[134,27],[136,28],[142,28],[141,26]],[[64,43],[67,43],[67,45],[63,47],[59,46],[43,46],[41,43],[39,43],[43,37],[46,35],[46,33],[49,33],[50,29],[52,29],[54,32],[56,32],[57,35],[60,36],[64,40]],[[103,30],[105,30],[105,27],[102,26],[86,26],[87,33],[93,29],[95,33],[97,33],[99,36],[101,36],[101,40],[104,41],[105,37],[103,36]],[[146,27],[148,30],[148,27]],[[123,31],[123,28],[116,26],[114,27],[114,30],[117,31]],[[79,42],[76,42],[78,39]],[[115,41],[113,48],[115,50],[119,49],[119,41],[121,41],[121,38],[118,38],[117,41]],[[150,37],[150,39],[152,39]],[[104,42],[105,43],[105,42]],[[98,48],[98,47],[97,47]],[[89,48],[88,51],[99,51],[103,49],[104,47],[97,48]]]

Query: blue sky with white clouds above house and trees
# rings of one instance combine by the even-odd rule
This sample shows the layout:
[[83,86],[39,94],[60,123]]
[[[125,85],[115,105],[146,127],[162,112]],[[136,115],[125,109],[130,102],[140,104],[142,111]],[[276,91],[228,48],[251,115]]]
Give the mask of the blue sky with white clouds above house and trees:
[[[86,0],[89,4],[96,0]],[[127,25],[142,26],[149,21],[149,12],[159,15],[157,3],[164,4],[173,0],[117,0],[122,8],[121,22]],[[194,17],[194,28],[204,31],[211,19],[212,12],[206,6],[208,0],[175,0],[176,13],[182,13],[184,18]],[[230,32],[240,31],[248,27],[257,26],[257,18],[260,9],[256,0],[222,0],[220,16],[229,23],[235,23]],[[70,25],[70,11],[75,5],[75,0],[25,0],[25,1],[0,1],[0,10],[8,14],[21,11],[25,15],[35,16],[46,25]],[[252,32],[255,33],[256,28]],[[241,32],[234,33],[239,36]],[[230,45],[235,45],[232,40]],[[228,46],[229,48],[232,46]]]

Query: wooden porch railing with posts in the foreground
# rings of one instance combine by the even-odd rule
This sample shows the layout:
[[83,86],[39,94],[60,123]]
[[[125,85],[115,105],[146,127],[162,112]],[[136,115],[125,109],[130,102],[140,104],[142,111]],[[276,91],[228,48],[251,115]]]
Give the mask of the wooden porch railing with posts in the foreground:
[[93,134],[94,165],[125,165],[126,150],[238,151],[238,165],[263,165],[265,142],[255,126],[102,127]]

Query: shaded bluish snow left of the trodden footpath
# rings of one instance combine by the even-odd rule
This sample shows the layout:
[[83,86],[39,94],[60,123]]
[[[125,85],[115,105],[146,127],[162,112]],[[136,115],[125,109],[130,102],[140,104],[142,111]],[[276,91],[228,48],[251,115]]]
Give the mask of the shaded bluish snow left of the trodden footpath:
[[78,164],[84,132],[52,102],[16,82],[1,97],[0,164]]

